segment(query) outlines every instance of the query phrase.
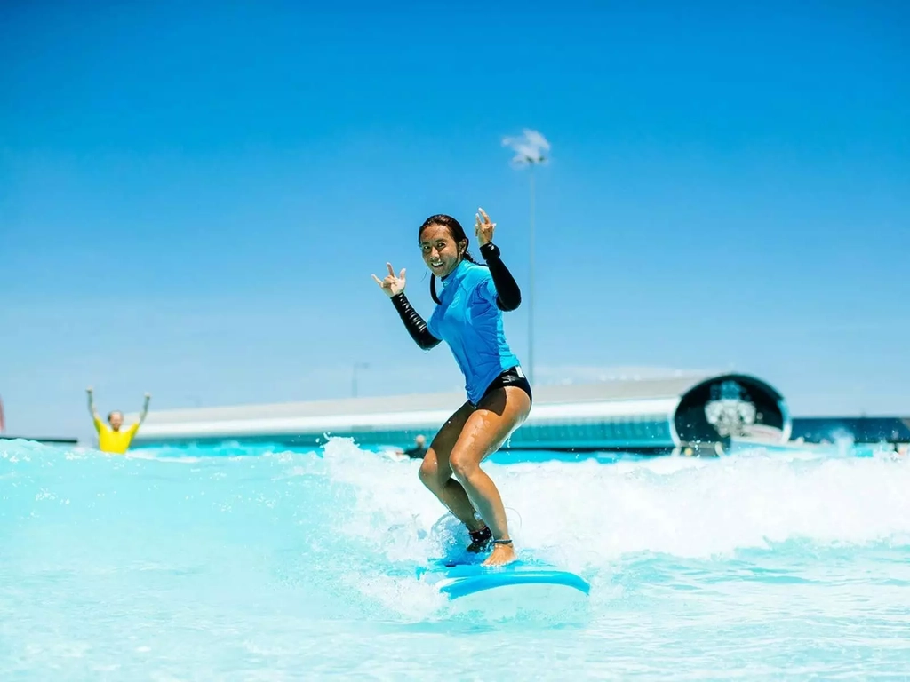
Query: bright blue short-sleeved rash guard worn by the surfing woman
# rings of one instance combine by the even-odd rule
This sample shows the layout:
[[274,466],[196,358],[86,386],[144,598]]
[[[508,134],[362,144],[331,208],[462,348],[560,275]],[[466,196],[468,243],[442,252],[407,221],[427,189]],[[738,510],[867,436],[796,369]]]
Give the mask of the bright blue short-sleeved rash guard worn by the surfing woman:
[[493,379],[519,365],[518,357],[506,343],[489,268],[462,260],[442,284],[440,305],[427,328],[449,344],[464,374],[468,399],[477,405]]

